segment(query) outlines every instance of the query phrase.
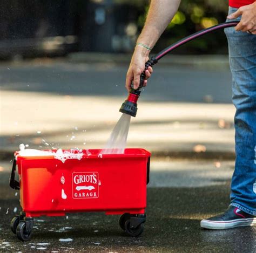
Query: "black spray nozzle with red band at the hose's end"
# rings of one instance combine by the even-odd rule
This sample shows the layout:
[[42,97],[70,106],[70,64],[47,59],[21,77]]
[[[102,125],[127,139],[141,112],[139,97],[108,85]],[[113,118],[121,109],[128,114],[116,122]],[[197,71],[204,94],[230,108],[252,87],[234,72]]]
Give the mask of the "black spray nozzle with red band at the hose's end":
[[132,117],[136,117],[136,113],[138,110],[137,107],[137,101],[140,95],[140,89],[143,87],[144,80],[145,80],[145,71],[149,68],[152,67],[154,64],[157,63],[157,59],[152,57],[150,60],[148,60],[145,64],[145,69],[143,73],[140,75],[139,79],[139,87],[137,90],[133,88],[133,83],[131,85],[131,90],[129,92],[129,95],[127,99],[123,102],[122,106],[120,107],[119,112],[126,113],[128,115],[131,115]]

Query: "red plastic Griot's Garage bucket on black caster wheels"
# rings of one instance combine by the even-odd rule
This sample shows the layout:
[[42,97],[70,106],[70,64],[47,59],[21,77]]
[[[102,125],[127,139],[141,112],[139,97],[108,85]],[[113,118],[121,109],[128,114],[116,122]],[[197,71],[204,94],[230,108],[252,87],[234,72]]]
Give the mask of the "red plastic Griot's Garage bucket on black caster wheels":
[[[40,156],[15,153],[10,186],[20,191],[22,212],[12,220],[11,229],[20,240],[30,239],[33,217],[85,211],[122,214],[119,224],[127,234],[143,232],[148,151],[131,148],[124,154],[99,155],[100,149],[91,149],[77,152],[76,159],[64,160],[51,152]],[[16,165],[19,182],[15,180]]]

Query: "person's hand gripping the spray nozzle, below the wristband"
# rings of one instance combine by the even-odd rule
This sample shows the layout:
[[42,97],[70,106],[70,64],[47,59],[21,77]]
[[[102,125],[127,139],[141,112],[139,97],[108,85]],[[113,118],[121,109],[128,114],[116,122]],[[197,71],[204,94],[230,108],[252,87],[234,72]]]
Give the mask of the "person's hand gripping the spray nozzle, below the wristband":
[[[144,49],[142,46],[137,45],[135,47],[129,69],[128,69],[127,74],[126,74],[125,87],[126,87],[127,91],[130,91],[132,81],[133,81],[133,88],[135,90],[137,90],[137,88],[139,87],[140,74],[142,74],[142,72],[144,71],[145,63],[148,60],[149,60],[149,51]],[[145,71],[146,78],[144,80],[143,86],[147,85],[147,80],[146,79],[150,78],[152,72],[153,72],[152,67],[149,67],[149,69],[147,69]]]

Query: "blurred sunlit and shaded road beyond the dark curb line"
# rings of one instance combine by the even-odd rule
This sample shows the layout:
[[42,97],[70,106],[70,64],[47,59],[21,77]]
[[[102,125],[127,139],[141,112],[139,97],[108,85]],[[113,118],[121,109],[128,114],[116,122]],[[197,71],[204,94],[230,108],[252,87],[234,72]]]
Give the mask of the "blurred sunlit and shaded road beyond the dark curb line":
[[[12,155],[20,143],[47,148],[42,140],[50,148],[103,148],[127,96],[126,71],[126,64],[104,62],[2,63],[0,156]],[[127,147],[231,159],[234,112],[228,67],[155,66],[131,120]]]

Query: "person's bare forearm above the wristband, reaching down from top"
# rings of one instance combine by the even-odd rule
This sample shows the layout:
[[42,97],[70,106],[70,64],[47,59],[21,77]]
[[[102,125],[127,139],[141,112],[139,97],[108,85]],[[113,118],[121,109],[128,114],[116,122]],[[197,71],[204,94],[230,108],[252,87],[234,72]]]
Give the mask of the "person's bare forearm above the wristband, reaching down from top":
[[153,47],[171,22],[179,8],[180,0],[151,0],[146,22],[137,43]]

